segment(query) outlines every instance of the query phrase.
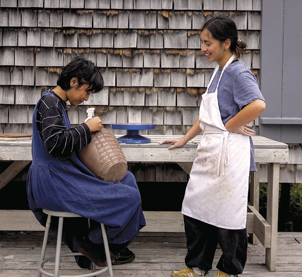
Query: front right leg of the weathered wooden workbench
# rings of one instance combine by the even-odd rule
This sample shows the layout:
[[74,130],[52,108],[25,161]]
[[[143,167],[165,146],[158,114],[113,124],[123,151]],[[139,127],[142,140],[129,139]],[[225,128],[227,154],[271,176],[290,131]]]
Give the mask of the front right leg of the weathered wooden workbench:
[[271,247],[265,248],[265,264],[270,271],[276,270],[278,237],[279,163],[268,164],[266,220],[271,225]]

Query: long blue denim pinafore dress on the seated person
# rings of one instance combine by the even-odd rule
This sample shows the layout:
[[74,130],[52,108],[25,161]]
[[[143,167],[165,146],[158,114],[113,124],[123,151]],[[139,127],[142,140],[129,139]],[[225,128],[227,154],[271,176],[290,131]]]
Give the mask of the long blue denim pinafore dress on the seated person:
[[[27,176],[29,206],[37,220],[46,225],[47,216],[42,209],[71,212],[103,223],[109,243],[131,242],[145,226],[133,174],[128,171],[121,181],[106,182],[97,178],[74,151],[68,157],[50,155],[35,124],[38,103],[33,113],[32,164]],[[70,121],[63,107],[62,111],[64,124],[69,129]],[[73,252],[78,251],[79,241],[85,234],[89,234],[94,243],[103,242],[100,224],[92,222],[89,230],[84,218],[64,220],[62,240]],[[55,234],[56,220],[53,218],[50,227]],[[80,256],[77,261],[81,267],[90,268],[88,258]]]

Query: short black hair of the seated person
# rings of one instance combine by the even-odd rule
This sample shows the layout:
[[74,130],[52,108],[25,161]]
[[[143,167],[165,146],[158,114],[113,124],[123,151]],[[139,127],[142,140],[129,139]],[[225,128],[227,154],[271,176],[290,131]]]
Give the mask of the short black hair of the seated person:
[[90,84],[89,91],[99,92],[104,87],[104,80],[97,66],[91,61],[82,56],[74,57],[61,70],[57,85],[63,90],[71,88],[70,80],[78,78],[79,85]]

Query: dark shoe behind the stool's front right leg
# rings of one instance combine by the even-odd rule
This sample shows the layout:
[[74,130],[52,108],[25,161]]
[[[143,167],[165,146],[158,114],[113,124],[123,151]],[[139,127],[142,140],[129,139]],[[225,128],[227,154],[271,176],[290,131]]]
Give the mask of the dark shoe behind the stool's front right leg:
[[[93,243],[89,240],[83,240],[79,243],[78,251],[89,258],[97,266],[107,266],[105,250],[102,245]],[[114,261],[114,255],[110,252],[111,261]]]

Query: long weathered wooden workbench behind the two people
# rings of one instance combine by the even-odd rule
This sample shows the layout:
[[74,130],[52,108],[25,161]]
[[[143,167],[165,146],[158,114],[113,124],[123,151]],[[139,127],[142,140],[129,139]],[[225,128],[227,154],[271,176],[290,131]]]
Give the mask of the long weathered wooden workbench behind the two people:
[[[118,136],[118,135],[117,135]],[[149,144],[121,144],[128,162],[176,162],[187,173],[190,172],[195,151],[200,139],[196,136],[181,148],[168,150],[168,145],[158,143],[170,135],[148,135]],[[180,137],[180,136],[175,136]],[[255,235],[266,249],[265,263],[276,270],[279,164],[288,161],[288,146],[262,136],[253,136],[255,161],[268,164],[268,191],[266,220],[259,214],[259,176],[251,176],[251,198],[248,205],[248,233]],[[0,161],[14,163],[0,175],[0,189],[12,180],[32,160],[31,141],[0,142]],[[183,232],[184,224],[180,212],[144,212],[147,226],[142,231]],[[0,211],[0,230],[44,230],[31,211]],[[256,243],[256,238],[253,238]]]

